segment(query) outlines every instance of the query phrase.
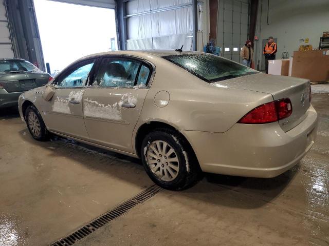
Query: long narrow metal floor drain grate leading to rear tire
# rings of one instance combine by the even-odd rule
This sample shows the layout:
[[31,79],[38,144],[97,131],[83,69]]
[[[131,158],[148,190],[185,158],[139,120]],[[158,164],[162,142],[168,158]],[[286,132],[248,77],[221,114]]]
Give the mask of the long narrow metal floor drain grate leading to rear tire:
[[161,190],[162,189],[160,187],[154,185],[154,186],[148,188],[147,190],[142,191],[141,193],[134,196],[133,198],[121,203],[116,208],[106,212],[105,214],[94,219],[93,221],[85,224],[85,226],[80,227],[77,231],[71,233],[70,235],[68,235],[64,238],[59,239],[58,241],[56,241],[50,245],[51,246],[73,245],[77,241],[88,236],[90,233],[105,226],[105,224],[107,224],[107,223],[111,222],[112,220],[125,214],[126,212],[128,212],[129,210],[134,208],[137,204],[140,204],[140,203],[146,201],[147,199],[151,198],[152,196],[154,196]]

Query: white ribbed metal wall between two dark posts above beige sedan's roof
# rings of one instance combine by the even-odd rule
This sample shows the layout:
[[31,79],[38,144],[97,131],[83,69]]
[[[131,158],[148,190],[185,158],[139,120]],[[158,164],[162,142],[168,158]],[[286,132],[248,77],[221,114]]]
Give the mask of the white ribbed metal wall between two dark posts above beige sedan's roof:
[[127,2],[127,49],[192,50],[191,0]]

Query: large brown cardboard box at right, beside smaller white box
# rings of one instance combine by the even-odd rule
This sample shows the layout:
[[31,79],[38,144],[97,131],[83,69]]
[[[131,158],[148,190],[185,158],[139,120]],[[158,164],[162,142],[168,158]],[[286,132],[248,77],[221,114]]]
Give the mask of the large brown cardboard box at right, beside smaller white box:
[[310,81],[329,80],[329,55],[326,50],[294,51],[291,76]]

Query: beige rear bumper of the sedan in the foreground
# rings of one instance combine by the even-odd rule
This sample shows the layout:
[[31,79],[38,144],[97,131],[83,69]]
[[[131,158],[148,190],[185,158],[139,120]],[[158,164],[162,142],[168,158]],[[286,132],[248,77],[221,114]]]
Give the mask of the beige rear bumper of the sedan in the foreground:
[[318,115],[312,106],[307,117],[284,132],[278,122],[235,124],[225,133],[182,131],[204,172],[270,178],[295,166],[313,146]]

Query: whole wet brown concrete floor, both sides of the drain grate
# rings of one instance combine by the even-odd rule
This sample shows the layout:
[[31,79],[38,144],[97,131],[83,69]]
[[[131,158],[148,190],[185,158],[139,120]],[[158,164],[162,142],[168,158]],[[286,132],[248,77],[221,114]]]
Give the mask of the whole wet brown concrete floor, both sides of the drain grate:
[[[272,179],[205,175],[75,245],[328,245],[329,94],[313,105],[318,138],[300,165]],[[47,245],[153,184],[139,160],[35,141],[15,114],[0,116],[0,136],[0,245]]]

